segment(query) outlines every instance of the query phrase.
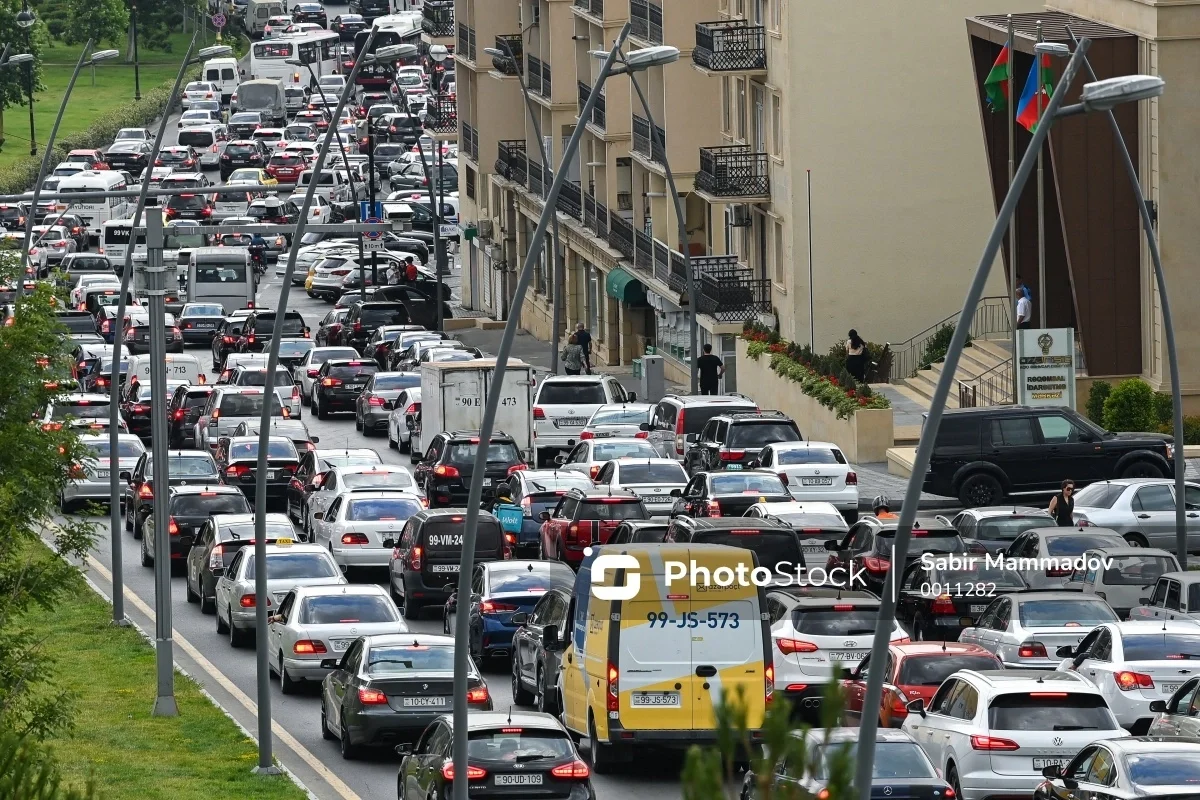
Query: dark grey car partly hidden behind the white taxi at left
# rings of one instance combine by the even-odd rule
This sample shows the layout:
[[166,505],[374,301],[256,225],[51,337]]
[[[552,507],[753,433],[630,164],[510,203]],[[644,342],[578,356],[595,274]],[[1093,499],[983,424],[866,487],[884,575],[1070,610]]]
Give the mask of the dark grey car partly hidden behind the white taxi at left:
[[[266,515],[265,530],[268,545],[280,540],[292,541],[295,536],[292,523],[280,513]],[[199,603],[202,614],[212,614],[216,610],[217,578],[233,564],[239,549],[254,543],[256,535],[253,513],[212,515],[200,523],[185,560],[184,594],[187,602]]]

